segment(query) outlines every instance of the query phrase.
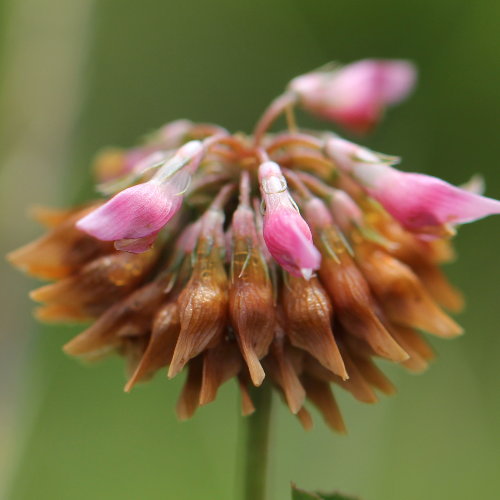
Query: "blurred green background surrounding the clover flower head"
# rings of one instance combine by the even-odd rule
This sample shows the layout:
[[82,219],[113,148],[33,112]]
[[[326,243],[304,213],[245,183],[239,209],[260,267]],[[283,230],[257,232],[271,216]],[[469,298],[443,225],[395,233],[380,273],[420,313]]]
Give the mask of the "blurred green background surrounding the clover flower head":
[[[499,18],[491,0],[1,0],[0,250],[41,233],[29,204],[90,195],[96,149],[181,117],[249,131],[291,77],[333,59],[414,60],[417,92],[365,143],[453,183],[480,172],[499,198]],[[339,393],[348,436],[317,414],[305,433],[276,404],[270,500],[291,480],[364,500],[498,498],[499,228],[456,241],[467,334],[433,342],[423,375],[387,367],[399,393],[375,406]],[[232,383],[178,423],[180,380],[126,395],[121,361],[68,359],[77,330],[37,325],[35,282],[1,266],[0,498],[238,498]]]

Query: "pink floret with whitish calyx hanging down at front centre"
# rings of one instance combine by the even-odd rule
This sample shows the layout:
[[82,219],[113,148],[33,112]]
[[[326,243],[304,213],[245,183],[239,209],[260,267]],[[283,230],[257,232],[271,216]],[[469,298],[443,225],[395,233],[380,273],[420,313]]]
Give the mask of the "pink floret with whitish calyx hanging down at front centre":
[[263,233],[269,252],[290,274],[309,279],[319,268],[321,255],[312,242],[307,222],[288,192],[278,164],[262,163],[259,182],[266,206]]

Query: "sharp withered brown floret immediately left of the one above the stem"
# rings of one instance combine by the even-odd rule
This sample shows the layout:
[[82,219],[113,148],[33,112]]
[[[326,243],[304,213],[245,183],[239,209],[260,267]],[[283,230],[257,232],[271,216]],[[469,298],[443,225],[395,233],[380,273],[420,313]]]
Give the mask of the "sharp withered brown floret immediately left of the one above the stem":
[[219,248],[202,240],[193,274],[178,299],[181,331],[168,372],[177,375],[204,349],[216,345],[227,320],[227,277]]

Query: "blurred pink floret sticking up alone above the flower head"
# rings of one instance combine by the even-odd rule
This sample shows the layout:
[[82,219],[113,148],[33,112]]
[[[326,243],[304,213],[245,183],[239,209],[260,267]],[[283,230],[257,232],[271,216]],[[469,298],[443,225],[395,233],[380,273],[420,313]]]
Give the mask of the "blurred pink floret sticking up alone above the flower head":
[[387,106],[407,97],[415,81],[415,66],[408,61],[364,59],[298,76],[289,88],[312,113],[366,132],[380,121]]

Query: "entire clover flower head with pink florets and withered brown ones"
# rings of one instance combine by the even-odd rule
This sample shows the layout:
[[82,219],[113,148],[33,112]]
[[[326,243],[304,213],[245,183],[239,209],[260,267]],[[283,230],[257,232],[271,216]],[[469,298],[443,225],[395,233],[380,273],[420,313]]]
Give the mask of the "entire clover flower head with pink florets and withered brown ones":
[[[90,321],[64,350],[118,353],[127,391],[187,370],[181,419],[235,379],[272,384],[305,428],[308,402],[345,431],[332,388],[365,403],[433,358],[422,332],[462,333],[440,265],[459,224],[500,213],[476,188],[395,168],[398,159],[331,132],[297,130],[302,106],[366,130],[412,89],[404,61],[361,61],[295,78],[252,135],[180,120],[130,150],[98,155],[104,199],[38,209],[48,232],[10,261],[54,281],[32,292],[47,321]],[[270,133],[286,112],[289,129]]]

